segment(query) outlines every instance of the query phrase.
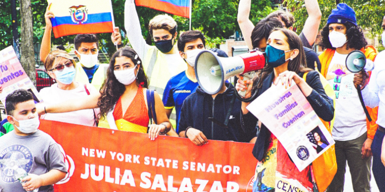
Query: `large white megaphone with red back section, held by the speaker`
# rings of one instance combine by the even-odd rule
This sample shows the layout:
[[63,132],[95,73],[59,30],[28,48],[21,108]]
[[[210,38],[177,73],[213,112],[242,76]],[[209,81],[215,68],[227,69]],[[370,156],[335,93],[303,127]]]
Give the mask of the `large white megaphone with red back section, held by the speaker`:
[[[253,77],[255,71],[265,66],[264,53],[252,50],[234,57],[218,57],[210,50],[198,54],[195,60],[195,75],[199,85],[208,94],[216,94],[222,88],[225,80],[232,76],[243,75],[244,80]],[[245,96],[245,91],[239,91]]]

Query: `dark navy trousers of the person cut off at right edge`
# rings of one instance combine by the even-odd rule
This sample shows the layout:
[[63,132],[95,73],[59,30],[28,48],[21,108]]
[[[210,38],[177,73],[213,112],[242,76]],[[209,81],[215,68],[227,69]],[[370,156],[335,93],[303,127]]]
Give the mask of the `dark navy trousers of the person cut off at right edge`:
[[372,171],[380,192],[385,192],[385,166],[381,162],[381,146],[384,135],[384,132],[377,129],[371,146],[373,153]]

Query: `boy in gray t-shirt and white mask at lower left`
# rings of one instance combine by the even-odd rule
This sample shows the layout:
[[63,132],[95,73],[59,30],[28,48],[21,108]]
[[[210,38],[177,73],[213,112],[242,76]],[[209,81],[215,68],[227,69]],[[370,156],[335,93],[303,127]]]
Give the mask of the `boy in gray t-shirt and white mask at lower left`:
[[[32,94],[19,89],[6,98],[7,119],[14,131],[0,138],[0,191],[54,191],[53,184],[65,177],[60,147],[40,125]],[[17,178],[28,174],[21,184]]]

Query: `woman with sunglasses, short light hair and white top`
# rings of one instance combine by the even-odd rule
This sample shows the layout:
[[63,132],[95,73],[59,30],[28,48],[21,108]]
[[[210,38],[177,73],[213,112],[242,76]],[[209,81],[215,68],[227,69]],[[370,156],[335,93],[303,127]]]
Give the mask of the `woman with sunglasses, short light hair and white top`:
[[[55,50],[48,54],[44,67],[48,74],[57,83],[40,91],[45,104],[52,105],[84,97],[88,94],[97,93],[90,84],[74,82],[75,60],[65,51]],[[41,119],[73,123],[85,126],[97,126],[96,116],[99,109],[84,109],[66,113],[50,113],[41,116]]]

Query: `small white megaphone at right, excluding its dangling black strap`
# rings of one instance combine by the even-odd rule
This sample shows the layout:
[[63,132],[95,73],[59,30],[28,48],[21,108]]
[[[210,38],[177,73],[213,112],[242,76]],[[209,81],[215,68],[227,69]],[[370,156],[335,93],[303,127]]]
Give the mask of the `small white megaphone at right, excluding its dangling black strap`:
[[374,63],[370,59],[366,59],[365,54],[361,51],[355,50],[351,52],[346,58],[346,67],[352,73],[358,73],[362,70],[372,71]]

